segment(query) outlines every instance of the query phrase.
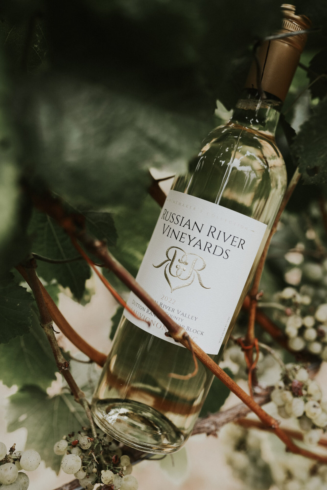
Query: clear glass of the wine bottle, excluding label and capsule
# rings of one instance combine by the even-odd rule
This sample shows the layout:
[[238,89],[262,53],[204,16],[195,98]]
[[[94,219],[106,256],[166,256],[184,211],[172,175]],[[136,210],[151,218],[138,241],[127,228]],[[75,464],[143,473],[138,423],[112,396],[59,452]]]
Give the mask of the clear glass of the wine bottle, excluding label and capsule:
[[[219,352],[211,354],[217,363],[287,183],[285,165],[275,142],[282,101],[272,93],[266,93],[266,97],[261,99],[255,87],[246,89],[231,120],[214,129],[204,141],[195,168],[176,177],[172,187],[177,193],[267,225]],[[190,304],[194,301],[197,298],[190,295]],[[219,308],[216,315],[218,322]],[[213,380],[212,373],[201,364],[198,374],[187,381],[169,376],[171,372],[186,375],[192,370],[193,359],[187,349],[152,335],[123,316],[94,393],[92,412],[97,424],[115,439],[137,449],[175,452],[191,434]]]

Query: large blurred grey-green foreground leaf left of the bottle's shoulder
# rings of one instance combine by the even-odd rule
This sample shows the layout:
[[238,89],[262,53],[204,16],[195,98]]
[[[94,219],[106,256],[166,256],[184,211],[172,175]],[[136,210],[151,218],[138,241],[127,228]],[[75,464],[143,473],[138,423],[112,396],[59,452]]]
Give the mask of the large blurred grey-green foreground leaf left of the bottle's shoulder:
[[31,178],[73,206],[138,205],[150,183],[147,167],[184,168],[210,127],[67,77],[33,80],[22,98],[23,163],[31,169],[34,162]]

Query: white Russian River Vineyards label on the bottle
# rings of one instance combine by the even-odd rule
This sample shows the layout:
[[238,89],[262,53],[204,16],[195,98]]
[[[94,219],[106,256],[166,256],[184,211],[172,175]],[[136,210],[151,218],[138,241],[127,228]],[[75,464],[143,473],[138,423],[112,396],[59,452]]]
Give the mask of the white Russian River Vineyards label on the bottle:
[[[206,353],[218,354],[266,228],[231,209],[170,191],[136,280]],[[127,304],[140,318],[125,309],[129,321],[175,343],[134,293]]]

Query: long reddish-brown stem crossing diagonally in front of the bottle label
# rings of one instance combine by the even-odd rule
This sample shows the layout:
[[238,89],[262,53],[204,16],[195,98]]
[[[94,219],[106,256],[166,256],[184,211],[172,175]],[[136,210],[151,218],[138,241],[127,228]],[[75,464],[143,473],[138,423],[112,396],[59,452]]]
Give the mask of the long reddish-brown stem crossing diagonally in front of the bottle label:
[[[300,172],[296,170],[278,210],[277,218],[273,225],[275,230],[277,228],[277,222],[280,215],[299,180]],[[279,427],[279,422],[274,417],[267,414],[267,412],[265,412],[260,405],[256,403],[250,395],[248,395],[248,393],[242,390],[242,388],[238,386],[235,381],[231,379],[226,372],[220,368],[192,339],[187,338],[189,336],[187,335],[186,331],[160,308],[160,306],[151,298],[151,296],[135,281],[134,277],[111,255],[106,244],[89,235],[85,228],[81,227],[80,222],[78,222],[72,214],[65,211],[58,197],[53,197],[50,193],[39,195],[30,192],[29,195],[34,203],[34,206],[38,210],[47,213],[51,218],[53,218],[71,238],[78,240],[89,253],[94,254],[98,259],[100,259],[100,262],[104,264],[106,268],[111,270],[134,294],[136,294],[154,313],[154,315],[166,326],[172,338],[176,340],[176,342],[180,342],[191,352],[194,352],[201,363],[206,366],[218,379],[220,379],[231,392],[236,394],[236,396],[238,396],[243,403],[245,403],[252,410],[252,412],[257,415],[265,426],[271,427],[274,430],[274,433],[281,441],[284,442],[288,450],[295,454],[302,454],[302,456],[307,458],[311,458],[325,464],[327,463],[327,456],[315,454],[297,446]],[[271,236],[272,235],[273,233]],[[265,249],[267,253],[268,245],[266,245]],[[263,268],[263,263],[264,260],[261,261],[261,270]],[[256,274],[257,285],[261,277],[261,270],[259,269],[259,272]],[[254,308],[252,307],[252,310],[254,310],[254,312],[252,311],[254,327],[256,303],[254,303]],[[252,331],[254,336],[254,328]],[[187,383],[187,381],[185,382]]]

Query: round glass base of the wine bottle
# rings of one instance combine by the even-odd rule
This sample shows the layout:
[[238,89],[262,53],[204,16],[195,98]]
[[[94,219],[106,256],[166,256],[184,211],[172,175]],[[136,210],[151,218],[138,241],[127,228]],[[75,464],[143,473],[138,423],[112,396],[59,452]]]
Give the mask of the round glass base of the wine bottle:
[[133,400],[97,400],[92,403],[97,425],[117,441],[148,453],[178,451],[185,437],[157,410]]

